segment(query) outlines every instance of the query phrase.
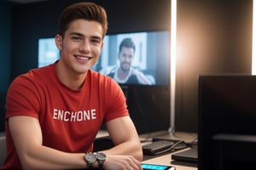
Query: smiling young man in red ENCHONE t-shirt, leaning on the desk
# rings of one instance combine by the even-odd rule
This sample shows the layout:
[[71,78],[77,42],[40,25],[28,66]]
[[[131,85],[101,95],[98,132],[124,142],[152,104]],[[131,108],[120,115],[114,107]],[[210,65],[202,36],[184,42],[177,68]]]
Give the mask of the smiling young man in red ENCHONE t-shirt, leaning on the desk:
[[[110,77],[90,70],[107,30],[107,14],[95,3],[64,9],[55,36],[60,59],[20,75],[9,87],[2,169],[142,169],[124,94]],[[102,122],[114,147],[92,154]]]

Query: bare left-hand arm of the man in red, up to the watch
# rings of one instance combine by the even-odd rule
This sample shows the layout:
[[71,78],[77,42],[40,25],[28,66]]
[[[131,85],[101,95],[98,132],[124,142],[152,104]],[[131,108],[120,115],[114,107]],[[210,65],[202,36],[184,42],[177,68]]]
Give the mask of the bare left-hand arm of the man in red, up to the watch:
[[43,145],[38,119],[9,117],[9,130],[23,169],[74,169],[87,167],[84,153],[66,153]]

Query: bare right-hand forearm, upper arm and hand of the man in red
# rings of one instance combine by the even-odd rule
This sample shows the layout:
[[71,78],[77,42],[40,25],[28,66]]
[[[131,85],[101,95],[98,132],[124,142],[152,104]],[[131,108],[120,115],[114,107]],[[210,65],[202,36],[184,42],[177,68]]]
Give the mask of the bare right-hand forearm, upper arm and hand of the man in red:
[[140,169],[140,162],[143,161],[143,150],[137,130],[131,121],[130,116],[123,116],[107,122],[110,138],[115,145],[109,150],[102,150],[107,155],[106,169],[111,169],[110,162],[119,163],[121,166],[131,166]]

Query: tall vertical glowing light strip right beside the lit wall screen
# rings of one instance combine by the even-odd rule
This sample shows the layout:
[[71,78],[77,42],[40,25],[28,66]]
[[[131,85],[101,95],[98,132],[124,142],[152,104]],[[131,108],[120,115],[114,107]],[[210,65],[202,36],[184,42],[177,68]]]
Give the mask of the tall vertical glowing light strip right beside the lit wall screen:
[[176,37],[177,37],[177,0],[171,0],[171,117],[170,123],[171,127],[169,129],[169,133],[173,133],[175,131],[175,84],[176,84]]

